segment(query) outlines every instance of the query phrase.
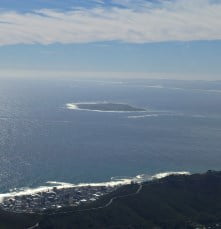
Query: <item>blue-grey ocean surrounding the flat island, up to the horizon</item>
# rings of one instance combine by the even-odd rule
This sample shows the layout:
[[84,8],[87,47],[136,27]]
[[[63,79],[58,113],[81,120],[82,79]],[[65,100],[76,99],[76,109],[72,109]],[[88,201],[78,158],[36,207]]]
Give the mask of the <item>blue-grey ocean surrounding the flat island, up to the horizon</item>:
[[[145,112],[70,109],[123,103]],[[221,81],[0,79],[0,192],[221,169]]]

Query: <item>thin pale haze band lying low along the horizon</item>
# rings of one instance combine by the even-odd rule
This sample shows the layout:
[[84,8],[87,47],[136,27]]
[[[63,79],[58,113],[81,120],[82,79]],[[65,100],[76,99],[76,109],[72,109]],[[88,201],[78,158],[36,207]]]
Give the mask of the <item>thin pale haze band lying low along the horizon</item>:
[[175,80],[220,80],[220,74],[208,73],[168,73],[168,72],[83,72],[62,70],[27,70],[27,69],[0,69],[1,78],[76,78],[76,79],[175,79]]

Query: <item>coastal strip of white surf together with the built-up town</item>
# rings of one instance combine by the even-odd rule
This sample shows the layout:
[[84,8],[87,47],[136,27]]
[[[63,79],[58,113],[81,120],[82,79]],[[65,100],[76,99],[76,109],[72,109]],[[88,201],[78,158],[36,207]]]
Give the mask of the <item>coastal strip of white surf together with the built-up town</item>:
[[48,186],[20,189],[17,192],[0,194],[0,208],[16,213],[36,213],[49,209],[80,206],[93,202],[119,187],[142,184],[169,175],[190,175],[189,172],[163,172],[155,175],[137,175],[131,178],[112,178],[109,182],[71,184],[48,181]]

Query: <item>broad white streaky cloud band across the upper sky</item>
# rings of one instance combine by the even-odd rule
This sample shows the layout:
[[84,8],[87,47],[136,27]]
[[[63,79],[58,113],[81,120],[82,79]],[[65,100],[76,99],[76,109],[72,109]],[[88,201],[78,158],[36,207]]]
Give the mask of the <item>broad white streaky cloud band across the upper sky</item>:
[[[103,1],[101,1],[103,2]],[[112,6],[0,11],[0,45],[221,39],[221,2],[114,0]]]

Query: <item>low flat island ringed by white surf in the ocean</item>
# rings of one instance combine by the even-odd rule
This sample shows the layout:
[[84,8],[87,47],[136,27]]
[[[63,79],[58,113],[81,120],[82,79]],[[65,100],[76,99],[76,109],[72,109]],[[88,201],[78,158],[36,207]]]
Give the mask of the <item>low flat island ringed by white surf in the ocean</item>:
[[68,103],[67,108],[74,110],[90,110],[103,112],[137,112],[146,111],[144,108],[134,107],[124,103]]

